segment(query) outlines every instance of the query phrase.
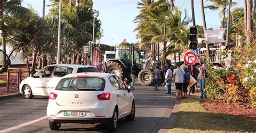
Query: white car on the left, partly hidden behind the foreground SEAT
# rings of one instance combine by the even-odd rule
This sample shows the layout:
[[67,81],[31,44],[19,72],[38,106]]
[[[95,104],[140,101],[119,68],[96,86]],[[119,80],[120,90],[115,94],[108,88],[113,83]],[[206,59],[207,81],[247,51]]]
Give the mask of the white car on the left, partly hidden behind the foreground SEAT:
[[19,92],[24,98],[32,98],[33,95],[49,96],[59,80],[70,73],[99,72],[96,67],[77,64],[54,64],[39,70],[35,75],[22,80]]

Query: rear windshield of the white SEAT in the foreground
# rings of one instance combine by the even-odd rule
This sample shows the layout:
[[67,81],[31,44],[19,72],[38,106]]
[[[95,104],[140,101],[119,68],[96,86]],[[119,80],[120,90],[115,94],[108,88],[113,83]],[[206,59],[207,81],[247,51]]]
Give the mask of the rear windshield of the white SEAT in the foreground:
[[102,78],[64,78],[58,83],[56,90],[63,91],[103,91],[105,79]]

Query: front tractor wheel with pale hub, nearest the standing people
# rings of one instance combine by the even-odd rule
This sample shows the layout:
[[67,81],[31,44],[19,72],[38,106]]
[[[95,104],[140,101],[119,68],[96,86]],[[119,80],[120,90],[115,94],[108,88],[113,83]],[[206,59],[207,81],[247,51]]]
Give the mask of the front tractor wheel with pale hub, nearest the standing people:
[[150,86],[153,83],[153,72],[150,69],[143,69],[139,72],[139,83],[144,86]]

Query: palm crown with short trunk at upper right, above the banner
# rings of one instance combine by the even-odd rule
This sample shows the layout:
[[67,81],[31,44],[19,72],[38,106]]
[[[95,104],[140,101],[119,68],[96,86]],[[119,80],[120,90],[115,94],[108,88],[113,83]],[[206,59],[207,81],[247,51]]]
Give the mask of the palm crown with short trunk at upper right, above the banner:
[[[213,11],[216,11],[216,10],[220,10],[219,12],[219,17],[223,17],[223,25],[222,27],[224,28],[225,27],[225,14],[226,14],[226,9],[227,9],[227,6],[228,6],[228,0],[223,0],[223,1],[220,1],[220,0],[208,0],[210,2],[212,2],[213,4],[212,5],[207,5],[205,8],[208,8],[210,10],[213,10]],[[232,5],[236,5],[237,3],[235,2],[232,2],[231,3],[231,6]]]

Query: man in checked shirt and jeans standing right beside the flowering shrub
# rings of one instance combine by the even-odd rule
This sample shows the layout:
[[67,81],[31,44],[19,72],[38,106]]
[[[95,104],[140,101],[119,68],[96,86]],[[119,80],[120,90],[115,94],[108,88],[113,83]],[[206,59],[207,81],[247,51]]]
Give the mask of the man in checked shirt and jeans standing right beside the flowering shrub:
[[207,77],[207,72],[206,72],[206,64],[204,63],[203,60],[199,60],[200,63],[200,99],[207,99],[206,94],[205,94],[205,78]]

